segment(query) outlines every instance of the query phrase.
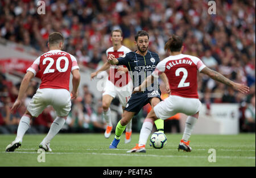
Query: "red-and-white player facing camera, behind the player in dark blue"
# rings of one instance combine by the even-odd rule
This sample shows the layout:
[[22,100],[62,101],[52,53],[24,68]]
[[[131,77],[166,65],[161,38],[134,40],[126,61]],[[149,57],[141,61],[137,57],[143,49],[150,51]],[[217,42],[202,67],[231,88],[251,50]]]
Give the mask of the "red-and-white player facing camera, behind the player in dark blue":
[[[107,57],[112,54],[116,58],[125,55],[131,50],[124,45],[122,45],[122,31],[121,30],[113,30],[111,32],[111,39],[113,47],[110,47],[106,50]],[[104,110],[103,117],[107,123],[105,138],[109,138],[113,125],[110,111],[110,104],[112,100],[118,96],[119,101],[123,107],[126,107],[127,101],[131,97],[131,93],[133,90],[133,81],[128,73],[128,69],[123,65],[110,65],[110,63],[106,62],[100,69],[91,74],[91,78],[97,76],[101,71],[106,71],[110,68],[108,80],[105,83],[104,91],[102,94],[102,107]],[[125,143],[129,143],[131,141],[131,123],[130,121],[126,126],[126,136]]]

